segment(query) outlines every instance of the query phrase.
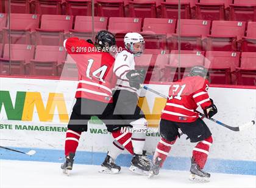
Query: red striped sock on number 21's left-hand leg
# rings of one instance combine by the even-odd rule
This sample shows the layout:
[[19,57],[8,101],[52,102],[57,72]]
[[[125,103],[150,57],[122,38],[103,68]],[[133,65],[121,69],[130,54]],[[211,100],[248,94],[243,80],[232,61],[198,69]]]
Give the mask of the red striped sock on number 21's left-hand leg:
[[154,161],[157,157],[162,159],[160,167],[163,166],[163,163],[165,162],[165,159],[168,156],[169,151],[171,150],[171,145],[175,143],[176,139],[174,141],[167,141],[166,139],[161,138],[160,141],[158,142],[153,159]]

